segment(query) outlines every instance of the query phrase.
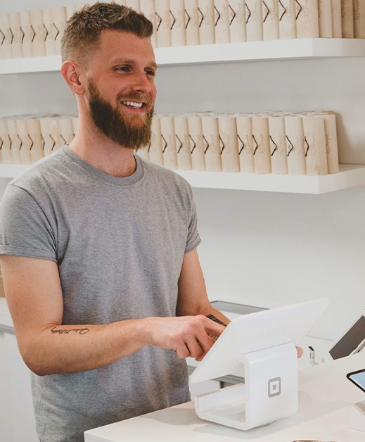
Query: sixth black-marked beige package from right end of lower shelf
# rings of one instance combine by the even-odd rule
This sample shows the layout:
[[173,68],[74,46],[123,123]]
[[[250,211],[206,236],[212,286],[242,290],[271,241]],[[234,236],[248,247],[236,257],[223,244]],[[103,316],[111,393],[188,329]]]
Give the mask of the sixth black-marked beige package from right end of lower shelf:
[[239,172],[238,139],[236,118],[222,116],[218,118],[219,138],[223,172]]

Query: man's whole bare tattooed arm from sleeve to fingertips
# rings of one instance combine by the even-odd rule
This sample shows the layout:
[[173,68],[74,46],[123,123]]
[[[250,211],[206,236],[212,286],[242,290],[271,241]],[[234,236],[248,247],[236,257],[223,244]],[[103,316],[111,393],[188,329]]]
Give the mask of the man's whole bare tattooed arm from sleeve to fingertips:
[[[224,327],[202,315],[147,317],[105,325],[61,325],[63,297],[51,260],[2,255],[4,289],[20,354],[34,373],[82,372],[108,365],[147,344],[172,348],[179,358],[206,353]],[[200,346],[197,346],[197,341]]]

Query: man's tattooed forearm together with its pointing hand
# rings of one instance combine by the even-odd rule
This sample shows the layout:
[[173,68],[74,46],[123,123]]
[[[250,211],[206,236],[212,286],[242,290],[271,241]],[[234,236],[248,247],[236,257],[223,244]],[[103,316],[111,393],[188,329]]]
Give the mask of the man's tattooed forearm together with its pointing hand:
[[148,344],[172,349],[179,358],[203,358],[212,346],[209,336],[223,330],[203,315],[146,317],[106,325],[49,324],[39,333],[23,331],[18,343],[30,370],[44,376],[94,370]]

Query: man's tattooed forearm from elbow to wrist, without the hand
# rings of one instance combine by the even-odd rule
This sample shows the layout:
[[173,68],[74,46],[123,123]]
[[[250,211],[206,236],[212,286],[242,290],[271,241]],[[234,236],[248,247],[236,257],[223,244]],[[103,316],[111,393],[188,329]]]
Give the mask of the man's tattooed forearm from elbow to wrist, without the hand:
[[148,343],[146,319],[105,325],[51,325],[22,351],[30,370],[43,376],[94,370]]

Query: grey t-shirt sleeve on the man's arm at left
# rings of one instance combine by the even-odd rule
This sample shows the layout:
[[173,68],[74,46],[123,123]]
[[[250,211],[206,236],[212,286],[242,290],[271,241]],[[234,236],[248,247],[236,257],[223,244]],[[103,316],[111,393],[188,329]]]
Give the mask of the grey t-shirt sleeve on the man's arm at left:
[[0,254],[57,262],[51,224],[35,198],[8,184],[0,203]]

